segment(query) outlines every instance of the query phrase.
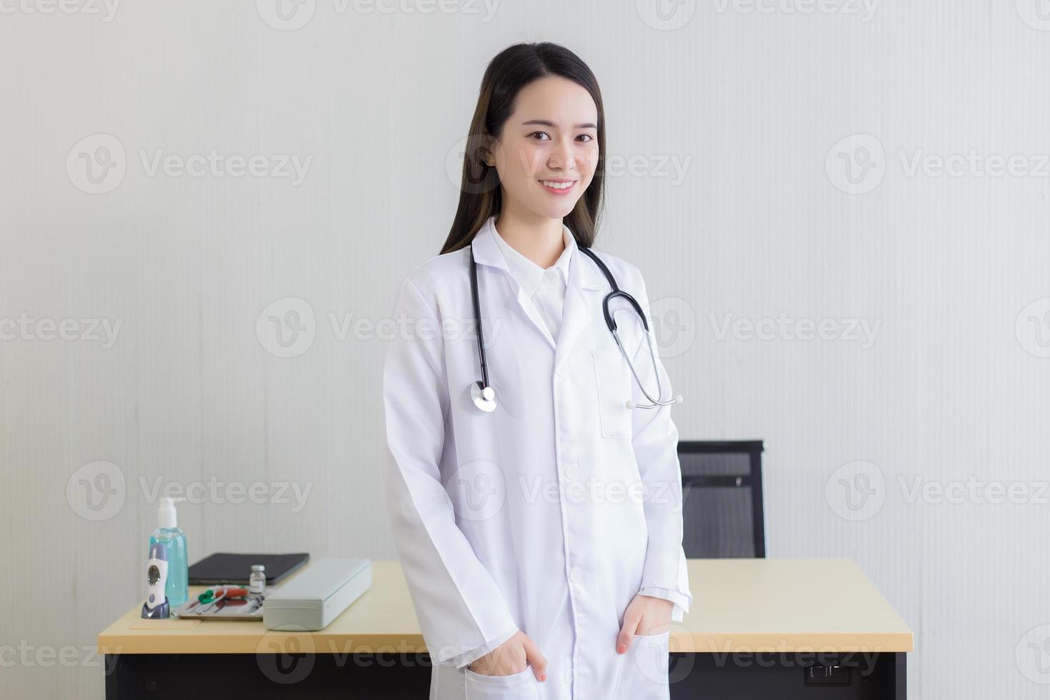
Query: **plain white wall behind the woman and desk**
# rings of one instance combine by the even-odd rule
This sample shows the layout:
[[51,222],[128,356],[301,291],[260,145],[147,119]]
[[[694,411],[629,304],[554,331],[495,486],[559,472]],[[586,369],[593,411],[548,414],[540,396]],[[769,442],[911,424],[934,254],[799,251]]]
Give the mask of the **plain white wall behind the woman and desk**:
[[[684,438],[765,440],[770,555],[856,559],[916,632],[911,697],[1047,697],[1050,21],[1036,0],[686,0],[665,7],[680,28],[658,28],[648,0],[429,14],[307,0],[296,30],[264,21],[279,25],[275,0],[111,16],[69,2],[0,0],[0,695],[102,697],[87,648],[143,595],[155,480],[311,489],[304,505],[275,491],[184,504],[192,559],[395,556],[384,343],[340,339],[329,315],[388,313],[447,233],[446,161],[486,62],[552,40],[601,81],[610,167],[635,163],[609,179],[598,246],[659,299]],[[856,186],[870,191],[846,193],[839,153],[856,166],[876,144]],[[89,194],[79,154],[106,145],[125,172]],[[147,167],[211,149],[311,161],[297,184]],[[911,169],[971,150],[961,176]],[[1003,166],[984,158],[1014,155],[1023,174],[989,175]],[[278,358],[262,312],[289,297],[315,338]],[[23,314],[77,319],[68,336],[91,330],[81,319],[121,326],[111,346],[45,340]],[[781,314],[842,325],[808,341],[719,333],[726,315]],[[835,335],[849,319],[874,340]],[[105,487],[100,473],[113,493],[93,511],[81,480]],[[912,497],[971,478],[961,503]],[[865,483],[852,510],[843,484],[857,499]],[[987,503],[995,484],[1024,503]]]

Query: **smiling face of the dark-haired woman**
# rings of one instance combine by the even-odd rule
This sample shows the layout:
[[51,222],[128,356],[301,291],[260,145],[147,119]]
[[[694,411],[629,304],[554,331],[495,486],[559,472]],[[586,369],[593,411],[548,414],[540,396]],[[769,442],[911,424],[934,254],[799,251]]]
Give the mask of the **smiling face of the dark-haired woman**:
[[495,156],[505,209],[556,219],[569,214],[597,165],[597,107],[590,92],[555,77],[526,85]]

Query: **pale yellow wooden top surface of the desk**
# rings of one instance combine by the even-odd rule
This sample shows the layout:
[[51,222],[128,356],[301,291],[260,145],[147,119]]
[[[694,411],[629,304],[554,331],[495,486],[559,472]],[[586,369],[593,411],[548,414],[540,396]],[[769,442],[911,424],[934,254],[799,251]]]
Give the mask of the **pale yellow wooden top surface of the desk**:
[[[849,559],[689,559],[693,606],[671,623],[671,651],[910,652],[912,634]],[[190,587],[191,599],[206,587]],[[372,588],[318,632],[261,621],[144,620],[142,602],[99,635],[106,654],[423,652],[397,561],[372,563]]]

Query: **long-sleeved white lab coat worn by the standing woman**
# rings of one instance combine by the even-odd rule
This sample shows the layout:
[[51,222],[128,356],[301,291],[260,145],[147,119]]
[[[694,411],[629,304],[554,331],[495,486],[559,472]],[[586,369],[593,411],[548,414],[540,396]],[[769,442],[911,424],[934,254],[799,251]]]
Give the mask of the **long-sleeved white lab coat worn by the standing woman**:
[[[593,260],[571,256],[555,342],[495,235],[489,218],[474,255],[499,407],[486,413],[470,400],[481,374],[469,248],[403,282],[383,369],[387,505],[434,661],[430,698],[666,699],[668,633],[636,636],[625,655],[615,644],[635,594],[672,600],[675,620],[692,602],[671,408],[627,408],[646,399],[606,326],[610,288]],[[647,310],[637,268],[598,255]],[[616,315],[655,396],[634,319]],[[667,398],[659,358],[657,372]],[[502,677],[466,667],[518,630],[546,657],[546,681],[531,667]]]

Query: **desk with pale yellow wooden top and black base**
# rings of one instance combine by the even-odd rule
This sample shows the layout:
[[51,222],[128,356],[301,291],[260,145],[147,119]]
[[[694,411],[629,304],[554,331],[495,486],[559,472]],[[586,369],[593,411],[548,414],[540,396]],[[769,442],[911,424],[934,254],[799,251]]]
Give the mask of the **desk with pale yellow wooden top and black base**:
[[[905,697],[911,631],[853,561],[690,559],[689,577],[692,610],[671,630],[673,698]],[[374,561],[369,592],[319,632],[140,610],[99,635],[107,698],[426,697],[429,660],[397,561]],[[849,684],[815,687],[806,674]]]

